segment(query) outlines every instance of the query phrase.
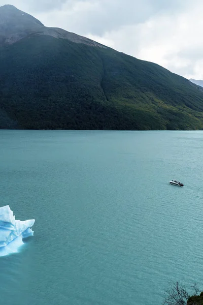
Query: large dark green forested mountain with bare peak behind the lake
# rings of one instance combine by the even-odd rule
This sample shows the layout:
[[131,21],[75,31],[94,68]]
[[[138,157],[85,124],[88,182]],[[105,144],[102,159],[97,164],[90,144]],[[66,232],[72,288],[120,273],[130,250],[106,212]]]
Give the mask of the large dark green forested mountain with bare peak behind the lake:
[[0,128],[195,130],[203,89],[153,63],[0,7]]

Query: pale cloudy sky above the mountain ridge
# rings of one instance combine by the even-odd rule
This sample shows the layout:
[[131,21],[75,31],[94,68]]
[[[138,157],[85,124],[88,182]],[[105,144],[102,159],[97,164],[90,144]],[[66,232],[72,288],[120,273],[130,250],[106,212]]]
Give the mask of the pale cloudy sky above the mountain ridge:
[[0,0],[46,26],[203,79],[202,0]]

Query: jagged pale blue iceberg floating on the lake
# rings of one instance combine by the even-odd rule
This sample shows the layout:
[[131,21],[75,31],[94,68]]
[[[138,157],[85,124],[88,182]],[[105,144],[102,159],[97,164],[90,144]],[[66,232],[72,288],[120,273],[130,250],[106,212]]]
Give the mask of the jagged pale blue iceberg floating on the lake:
[[[22,245],[23,238],[33,235],[33,231],[30,228],[34,223],[35,219],[15,220],[9,205],[0,207],[0,256],[17,252],[13,248],[16,249],[17,245]],[[8,248],[8,251],[6,248]]]

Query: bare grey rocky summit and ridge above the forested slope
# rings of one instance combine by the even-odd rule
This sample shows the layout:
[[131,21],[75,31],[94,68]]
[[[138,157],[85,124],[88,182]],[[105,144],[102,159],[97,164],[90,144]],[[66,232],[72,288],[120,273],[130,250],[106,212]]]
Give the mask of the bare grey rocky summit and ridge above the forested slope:
[[67,39],[75,43],[106,48],[105,46],[57,27],[46,27],[35,17],[12,5],[0,7],[0,44],[13,44],[29,35],[48,35],[56,39]]

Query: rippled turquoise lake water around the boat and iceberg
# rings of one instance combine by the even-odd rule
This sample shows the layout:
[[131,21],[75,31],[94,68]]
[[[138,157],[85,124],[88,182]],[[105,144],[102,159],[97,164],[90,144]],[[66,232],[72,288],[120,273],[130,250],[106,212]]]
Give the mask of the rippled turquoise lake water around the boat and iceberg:
[[202,131],[0,131],[1,206],[36,219],[0,257],[1,303],[161,305],[170,281],[203,290],[202,153]]

